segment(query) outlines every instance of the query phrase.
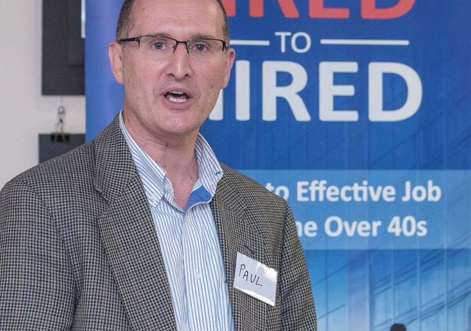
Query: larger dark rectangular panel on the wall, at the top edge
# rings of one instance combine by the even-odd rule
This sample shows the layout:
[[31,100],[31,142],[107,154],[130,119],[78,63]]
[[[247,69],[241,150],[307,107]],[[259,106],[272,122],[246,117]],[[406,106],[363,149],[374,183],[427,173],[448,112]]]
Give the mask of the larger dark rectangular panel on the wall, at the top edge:
[[43,0],[43,95],[84,95],[80,0]]

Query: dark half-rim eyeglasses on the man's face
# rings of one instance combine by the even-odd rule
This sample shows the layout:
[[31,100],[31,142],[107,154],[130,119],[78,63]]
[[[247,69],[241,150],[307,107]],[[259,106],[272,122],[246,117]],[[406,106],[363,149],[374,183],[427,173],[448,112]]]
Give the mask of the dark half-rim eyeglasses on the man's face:
[[185,44],[186,51],[197,60],[210,60],[228,47],[224,40],[211,38],[180,41],[169,37],[139,36],[118,40],[119,43],[128,41],[137,42],[145,56],[155,59],[170,56],[177,50],[178,44]]

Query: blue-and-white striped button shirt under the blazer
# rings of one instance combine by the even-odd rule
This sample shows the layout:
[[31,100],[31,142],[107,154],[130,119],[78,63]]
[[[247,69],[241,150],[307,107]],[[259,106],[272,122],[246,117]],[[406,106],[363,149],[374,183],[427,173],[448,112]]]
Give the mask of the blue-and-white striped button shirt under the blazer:
[[154,218],[178,330],[234,331],[224,264],[209,206],[223,174],[216,156],[200,134],[195,147],[199,178],[183,210],[174,202],[166,172],[132,139],[122,112],[119,121]]

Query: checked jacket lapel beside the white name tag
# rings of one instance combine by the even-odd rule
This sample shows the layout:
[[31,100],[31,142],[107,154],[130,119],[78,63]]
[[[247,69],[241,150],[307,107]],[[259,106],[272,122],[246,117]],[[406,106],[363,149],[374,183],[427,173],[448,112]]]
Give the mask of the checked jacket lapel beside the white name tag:
[[218,183],[211,201],[226,270],[235,330],[265,330],[267,305],[234,288],[237,252],[263,261],[266,245],[245,217],[246,202],[234,191],[226,175]]

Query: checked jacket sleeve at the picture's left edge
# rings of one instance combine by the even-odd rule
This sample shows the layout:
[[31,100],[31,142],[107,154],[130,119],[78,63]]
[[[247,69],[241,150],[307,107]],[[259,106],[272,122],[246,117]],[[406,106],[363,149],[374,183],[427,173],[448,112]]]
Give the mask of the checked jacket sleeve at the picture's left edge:
[[21,179],[0,192],[0,330],[65,330],[74,279],[51,212]]

